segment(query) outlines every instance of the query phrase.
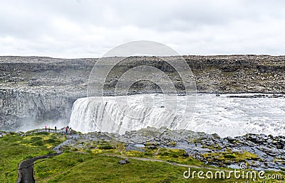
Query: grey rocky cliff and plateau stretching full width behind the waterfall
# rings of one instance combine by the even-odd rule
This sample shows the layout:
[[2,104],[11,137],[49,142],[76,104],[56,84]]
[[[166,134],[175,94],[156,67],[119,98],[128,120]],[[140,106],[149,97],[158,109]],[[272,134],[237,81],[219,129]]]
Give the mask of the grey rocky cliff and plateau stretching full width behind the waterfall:
[[[269,55],[183,56],[197,91],[207,93],[285,93],[285,57]],[[111,62],[114,58],[109,57]],[[118,58],[116,58],[118,59]],[[165,60],[181,57],[165,57]],[[85,97],[98,59],[0,57],[0,130],[43,121],[68,123],[73,101]],[[112,95],[120,76],[137,65],[154,66],[183,89],[171,65],[156,57],[128,57],[108,74],[104,94]],[[135,82],[130,94],[160,92],[152,82]]]

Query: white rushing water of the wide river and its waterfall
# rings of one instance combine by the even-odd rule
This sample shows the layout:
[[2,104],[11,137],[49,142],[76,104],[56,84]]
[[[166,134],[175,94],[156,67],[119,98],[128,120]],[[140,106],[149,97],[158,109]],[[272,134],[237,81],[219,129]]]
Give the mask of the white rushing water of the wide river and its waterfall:
[[[197,94],[195,112],[186,112],[182,120],[186,96],[170,96],[165,101],[162,94],[133,95],[128,96],[128,104],[120,109],[116,103],[120,96],[104,96],[103,101],[100,101],[102,97],[81,98],[73,104],[69,126],[83,133],[123,134],[147,126],[181,129],[187,124],[188,130],[217,133],[222,137],[246,133],[285,134],[285,98],[247,99],[229,98],[229,95],[253,94]],[[148,101],[153,101],[150,106]]]

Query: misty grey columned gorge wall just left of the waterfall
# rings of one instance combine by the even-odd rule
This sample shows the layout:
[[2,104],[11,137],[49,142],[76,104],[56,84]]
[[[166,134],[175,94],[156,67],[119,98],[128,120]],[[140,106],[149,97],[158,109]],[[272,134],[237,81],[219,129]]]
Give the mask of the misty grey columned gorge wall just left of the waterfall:
[[0,89],[0,129],[26,130],[51,121],[66,124],[72,106],[73,99],[63,96]]

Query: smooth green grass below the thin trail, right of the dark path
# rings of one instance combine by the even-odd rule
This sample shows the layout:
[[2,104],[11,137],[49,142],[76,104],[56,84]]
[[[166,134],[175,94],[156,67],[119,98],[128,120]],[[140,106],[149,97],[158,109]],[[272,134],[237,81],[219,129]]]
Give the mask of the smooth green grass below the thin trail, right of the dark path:
[[[63,153],[35,165],[37,182],[252,182],[250,179],[185,179],[183,172],[188,167],[129,159],[126,165],[119,165],[120,157],[94,153]],[[207,168],[192,168],[207,172]],[[212,170],[213,173],[216,170]],[[266,172],[273,174],[276,172]],[[283,174],[285,177],[285,174]],[[257,181],[261,182],[261,181]],[[270,182],[270,181],[269,181]]]

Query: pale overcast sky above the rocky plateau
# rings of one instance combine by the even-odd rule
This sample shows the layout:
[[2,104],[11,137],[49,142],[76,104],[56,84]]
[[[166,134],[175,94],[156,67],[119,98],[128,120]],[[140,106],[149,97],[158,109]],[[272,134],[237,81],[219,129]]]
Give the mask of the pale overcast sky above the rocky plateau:
[[101,57],[133,40],[180,55],[285,55],[285,1],[0,1],[0,55]]

